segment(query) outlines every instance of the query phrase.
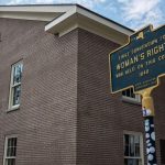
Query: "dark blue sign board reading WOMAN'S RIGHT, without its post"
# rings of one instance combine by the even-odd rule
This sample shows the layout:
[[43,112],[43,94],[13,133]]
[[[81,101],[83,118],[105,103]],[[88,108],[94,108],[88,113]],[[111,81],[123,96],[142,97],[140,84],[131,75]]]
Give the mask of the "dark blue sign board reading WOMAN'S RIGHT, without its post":
[[112,92],[157,86],[158,77],[165,75],[165,25],[154,31],[150,25],[134,33],[109,59]]

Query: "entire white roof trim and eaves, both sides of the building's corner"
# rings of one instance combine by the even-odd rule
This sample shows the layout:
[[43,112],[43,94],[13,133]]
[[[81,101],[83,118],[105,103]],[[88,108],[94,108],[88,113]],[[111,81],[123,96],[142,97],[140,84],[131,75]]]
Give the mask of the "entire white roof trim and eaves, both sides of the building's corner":
[[77,4],[0,6],[0,18],[51,21],[45,31],[59,36],[80,28],[125,44],[133,31]]

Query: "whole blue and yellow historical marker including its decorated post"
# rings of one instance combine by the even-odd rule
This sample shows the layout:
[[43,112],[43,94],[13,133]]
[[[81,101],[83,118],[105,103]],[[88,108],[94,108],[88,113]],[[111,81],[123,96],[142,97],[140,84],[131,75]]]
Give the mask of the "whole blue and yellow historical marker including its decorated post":
[[165,76],[165,25],[153,31],[148,25],[130,36],[130,42],[109,56],[111,92],[133,88],[142,96],[147,165],[157,165],[154,103],[151,92]]

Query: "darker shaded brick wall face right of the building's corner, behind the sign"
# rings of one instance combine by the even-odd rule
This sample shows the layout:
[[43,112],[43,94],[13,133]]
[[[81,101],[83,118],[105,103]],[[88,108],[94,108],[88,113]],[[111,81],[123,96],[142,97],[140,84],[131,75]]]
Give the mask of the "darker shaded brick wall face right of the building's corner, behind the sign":
[[[77,163],[122,165],[123,130],[144,130],[141,106],[123,102],[121,94],[110,94],[108,54],[118,45],[84,30],[78,36]],[[158,165],[158,139],[165,139],[165,127],[161,127],[165,125],[163,91],[164,82],[154,94]]]

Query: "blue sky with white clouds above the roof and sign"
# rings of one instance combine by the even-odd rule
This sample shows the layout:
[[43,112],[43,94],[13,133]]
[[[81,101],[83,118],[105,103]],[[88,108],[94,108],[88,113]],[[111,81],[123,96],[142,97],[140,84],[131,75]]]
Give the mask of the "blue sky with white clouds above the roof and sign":
[[165,0],[0,0],[0,4],[79,3],[133,30],[165,24]]

